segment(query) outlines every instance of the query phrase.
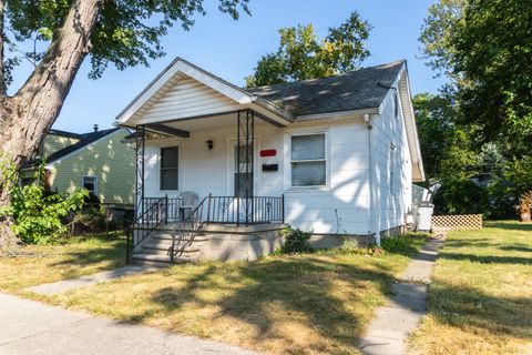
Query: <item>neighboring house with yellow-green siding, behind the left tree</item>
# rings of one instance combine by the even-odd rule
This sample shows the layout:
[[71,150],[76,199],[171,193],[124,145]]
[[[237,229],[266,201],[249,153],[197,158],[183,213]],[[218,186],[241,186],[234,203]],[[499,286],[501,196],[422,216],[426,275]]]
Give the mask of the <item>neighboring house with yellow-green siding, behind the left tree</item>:
[[[45,160],[45,186],[52,192],[68,194],[85,187],[102,203],[134,205],[135,146],[124,139],[131,132],[115,128],[90,133],[50,130],[39,146]],[[33,168],[22,172],[22,183],[33,179]]]

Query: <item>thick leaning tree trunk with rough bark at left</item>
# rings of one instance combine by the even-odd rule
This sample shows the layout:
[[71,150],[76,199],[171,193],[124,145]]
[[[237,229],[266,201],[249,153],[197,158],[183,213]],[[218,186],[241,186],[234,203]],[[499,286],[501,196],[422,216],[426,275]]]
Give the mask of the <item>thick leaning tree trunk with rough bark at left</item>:
[[[0,82],[0,154],[7,154],[17,169],[34,154],[59,115],[75,74],[89,53],[90,38],[102,3],[103,0],[73,1],[43,60],[16,95],[7,97],[3,81]],[[2,0],[0,10],[3,10]],[[3,11],[0,11],[1,26],[2,14]],[[3,50],[1,52],[0,59]],[[2,189],[4,178],[1,175],[0,172],[0,206],[9,203],[9,194]],[[6,244],[6,240],[13,237],[7,227],[9,223],[0,220],[0,245],[2,240]]]

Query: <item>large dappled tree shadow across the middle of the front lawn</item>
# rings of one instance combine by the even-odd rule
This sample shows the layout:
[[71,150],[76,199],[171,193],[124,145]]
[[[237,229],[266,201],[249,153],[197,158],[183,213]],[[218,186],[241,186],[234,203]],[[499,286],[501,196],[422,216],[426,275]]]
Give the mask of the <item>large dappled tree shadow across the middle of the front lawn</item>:
[[[391,270],[379,263],[374,266],[378,267],[362,268],[341,260],[308,255],[248,264],[213,264],[186,280],[181,287],[155,291],[151,301],[157,308],[162,307],[164,314],[178,313],[191,303],[200,310],[219,310],[213,321],[227,316],[252,326],[255,329],[254,343],[282,337],[291,338],[288,343],[297,341],[298,334],[286,334],[287,328],[283,327],[297,324],[294,327],[296,333],[298,329],[304,334],[314,332],[327,338],[328,345],[316,339],[313,339],[316,343],[305,345],[315,352],[330,352],[328,346],[352,349],[357,347],[366,322],[371,317],[366,311],[358,310],[357,313],[354,308],[376,306],[380,300],[380,296],[368,291],[371,287],[369,283],[377,284],[375,293],[382,295],[391,292]],[[178,274],[178,267],[168,271],[166,276]],[[227,268],[231,268],[229,272]],[[342,285],[341,290],[339,284]],[[212,290],[222,296],[206,297],[205,292]],[[129,321],[142,322],[153,313],[152,308],[131,316]],[[364,316],[366,318],[362,321],[360,317]],[[293,346],[297,347],[296,344]]]

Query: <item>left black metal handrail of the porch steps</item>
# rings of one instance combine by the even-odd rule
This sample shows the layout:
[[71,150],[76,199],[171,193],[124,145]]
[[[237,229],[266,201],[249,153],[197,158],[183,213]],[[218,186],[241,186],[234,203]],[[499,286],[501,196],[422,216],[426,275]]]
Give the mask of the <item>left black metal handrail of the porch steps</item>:
[[[153,200],[153,199],[152,199]],[[133,251],[144,240],[152,233],[166,217],[166,212],[163,212],[162,203],[164,202],[164,206],[167,206],[167,196],[156,199],[155,202],[141,215],[139,215],[133,223],[126,229],[125,236],[126,236],[126,245],[125,245],[125,261],[129,264],[131,257],[131,245],[133,244]],[[143,202],[144,203],[144,202]],[[155,220],[153,220],[155,217]],[[147,223],[144,223],[144,222]],[[136,225],[142,224],[142,227],[137,227]],[[141,235],[134,240],[134,231],[142,232]],[[132,233],[133,232],[133,233]],[[133,243],[131,243],[131,237],[133,236]]]

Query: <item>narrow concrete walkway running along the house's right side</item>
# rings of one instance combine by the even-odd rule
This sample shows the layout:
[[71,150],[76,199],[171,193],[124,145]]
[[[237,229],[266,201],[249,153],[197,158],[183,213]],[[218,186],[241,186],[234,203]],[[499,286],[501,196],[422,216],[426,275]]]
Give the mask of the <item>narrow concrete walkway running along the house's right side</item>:
[[410,262],[400,282],[393,286],[395,296],[377,310],[360,343],[364,354],[406,354],[408,336],[427,311],[428,284],[442,245],[443,240],[430,240]]

